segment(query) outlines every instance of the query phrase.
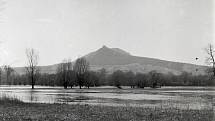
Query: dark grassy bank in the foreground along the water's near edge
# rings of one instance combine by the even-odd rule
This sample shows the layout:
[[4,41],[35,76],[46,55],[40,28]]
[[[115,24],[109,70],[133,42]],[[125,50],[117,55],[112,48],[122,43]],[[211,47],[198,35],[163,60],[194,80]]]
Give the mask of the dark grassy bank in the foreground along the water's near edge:
[[[7,100],[7,101],[6,101]],[[1,121],[214,121],[213,110],[30,104],[0,101]]]

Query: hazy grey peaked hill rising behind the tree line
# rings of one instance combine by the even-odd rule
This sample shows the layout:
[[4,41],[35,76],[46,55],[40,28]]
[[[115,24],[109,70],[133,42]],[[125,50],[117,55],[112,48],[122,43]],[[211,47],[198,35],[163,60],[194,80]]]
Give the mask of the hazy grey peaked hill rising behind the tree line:
[[[119,48],[103,46],[95,52],[84,56],[90,63],[90,69],[97,71],[105,68],[112,73],[116,70],[133,71],[135,73],[147,73],[156,70],[160,73],[180,74],[183,71],[193,74],[205,74],[206,66],[188,63],[172,62],[148,57],[133,56]],[[41,66],[42,73],[55,73],[57,65]],[[198,71],[196,71],[198,70]],[[15,68],[19,74],[25,73],[24,67]]]

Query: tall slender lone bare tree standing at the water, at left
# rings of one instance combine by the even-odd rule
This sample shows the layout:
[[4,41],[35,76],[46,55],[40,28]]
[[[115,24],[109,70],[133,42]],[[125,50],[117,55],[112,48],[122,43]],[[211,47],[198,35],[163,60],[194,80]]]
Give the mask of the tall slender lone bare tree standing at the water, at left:
[[37,67],[39,55],[33,48],[30,48],[26,49],[26,56],[27,56],[26,72],[31,80],[32,89],[34,89],[34,85],[37,80],[37,75],[39,74],[39,68]]

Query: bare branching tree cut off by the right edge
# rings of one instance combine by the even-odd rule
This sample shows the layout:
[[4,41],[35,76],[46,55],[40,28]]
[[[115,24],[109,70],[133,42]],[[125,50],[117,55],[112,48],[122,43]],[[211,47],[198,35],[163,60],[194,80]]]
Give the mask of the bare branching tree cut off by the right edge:
[[205,48],[208,57],[206,58],[206,63],[208,65],[212,65],[211,71],[213,72],[213,76],[215,76],[215,50],[212,44],[209,44],[207,48]]

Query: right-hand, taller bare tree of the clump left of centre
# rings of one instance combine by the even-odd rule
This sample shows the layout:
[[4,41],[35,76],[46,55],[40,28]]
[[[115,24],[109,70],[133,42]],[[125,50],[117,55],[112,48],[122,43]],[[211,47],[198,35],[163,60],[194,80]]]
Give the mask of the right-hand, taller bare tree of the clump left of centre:
[[78,58],[74,65],[74,70],[77,77],[77,83],[81,89],[85,82],[85,75],[89,70],[89,62],[85,58]]

